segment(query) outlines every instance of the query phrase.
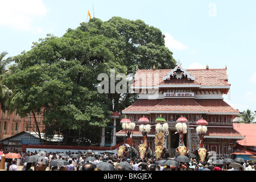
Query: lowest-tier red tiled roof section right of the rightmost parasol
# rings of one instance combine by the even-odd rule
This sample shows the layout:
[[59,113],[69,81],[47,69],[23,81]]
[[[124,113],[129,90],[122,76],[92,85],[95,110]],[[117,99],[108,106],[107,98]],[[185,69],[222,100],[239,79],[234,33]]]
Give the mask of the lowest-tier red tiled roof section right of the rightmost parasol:
[[233,128],[208,127],[205,138],[241,138],[242,135]]

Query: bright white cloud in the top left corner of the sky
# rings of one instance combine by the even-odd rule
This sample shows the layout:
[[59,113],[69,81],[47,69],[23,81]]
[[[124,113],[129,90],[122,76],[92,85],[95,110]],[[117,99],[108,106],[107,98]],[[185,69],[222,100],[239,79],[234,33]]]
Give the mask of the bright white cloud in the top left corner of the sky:
[[42,32],[42,27],[34,25],[35,18],[45,16],[46,5],[42,0],[0,0],[0,26],[22,31]]

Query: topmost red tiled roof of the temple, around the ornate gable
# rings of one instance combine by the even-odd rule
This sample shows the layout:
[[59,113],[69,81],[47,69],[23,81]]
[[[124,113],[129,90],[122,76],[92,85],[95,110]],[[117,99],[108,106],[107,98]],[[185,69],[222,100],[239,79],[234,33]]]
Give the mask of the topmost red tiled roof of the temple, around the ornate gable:
[[[171,69],[139,69],[134,78],[132,86],[157,86],[171,84],[201,84],[201,86],[229,86],[228,75],[225,68],[223,69],[186,69],[195,80],[171,78],[170,81],[164,81],[163,77],[171,72]],[[187,80],[187,81],[185,81]]]

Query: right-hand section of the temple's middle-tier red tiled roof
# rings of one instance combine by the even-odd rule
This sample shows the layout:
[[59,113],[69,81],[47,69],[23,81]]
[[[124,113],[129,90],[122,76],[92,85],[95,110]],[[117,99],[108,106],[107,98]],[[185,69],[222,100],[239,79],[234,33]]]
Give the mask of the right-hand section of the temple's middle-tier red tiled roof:
[[221,99],[197,99],[196,102],[210,113],[239,113],[239,111]]

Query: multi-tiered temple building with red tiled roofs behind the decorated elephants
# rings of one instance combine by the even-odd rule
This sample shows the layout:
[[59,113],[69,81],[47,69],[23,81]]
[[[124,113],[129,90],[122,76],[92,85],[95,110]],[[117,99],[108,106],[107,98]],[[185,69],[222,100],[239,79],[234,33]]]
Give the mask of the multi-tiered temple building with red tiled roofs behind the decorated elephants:
[[[150,121],[148,146],[155,149],[155,119],[162,117],[168,123],[165,146],[175,155],[179,146],[179,133],[175,128],[179,117],[187,118],[187,133],[184,144],[189,155],[199,149],[200,138],[196,133],[196,122],[205,119],[208,122],[204,136],[204,147],[216,152],[217,157],[230,157],[234,144],[243,137],[234,130],[232,120],[240,114],[223,98],[228,94],[227,69],[184,69],[180,61],[174,69],[141,70],[137,68],[131,89],[138,94],[138,100],[122,114],[137,124],[133,131],[133,147],[138,149],[142,134],[139,132],[138,119],[146,117]],[[125,131],[116,133],[117,137],[125,136]]]

